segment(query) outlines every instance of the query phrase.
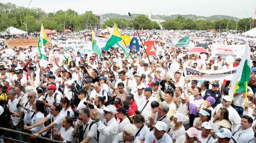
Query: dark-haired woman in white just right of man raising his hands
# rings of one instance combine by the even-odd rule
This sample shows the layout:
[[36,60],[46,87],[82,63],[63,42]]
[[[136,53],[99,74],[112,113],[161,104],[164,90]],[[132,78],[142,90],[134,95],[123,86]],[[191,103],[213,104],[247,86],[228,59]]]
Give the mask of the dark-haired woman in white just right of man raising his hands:
[[124,107],[119,107],[117,109],[117,116],[120,120],[122,119],[122,121],[119,124],[118,130],[118,133],[120,133],[123,132],[123,127],[127,124],[132,124],[132,121]]

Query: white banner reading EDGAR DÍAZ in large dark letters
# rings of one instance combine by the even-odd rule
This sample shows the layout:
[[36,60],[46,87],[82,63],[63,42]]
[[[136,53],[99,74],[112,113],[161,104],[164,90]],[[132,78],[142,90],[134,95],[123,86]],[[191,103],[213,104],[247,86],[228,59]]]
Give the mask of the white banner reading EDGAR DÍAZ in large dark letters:
[[232,80],[237,67],[223,70],[198,70],[193,67],[184,66],[184,75],[190,80]]

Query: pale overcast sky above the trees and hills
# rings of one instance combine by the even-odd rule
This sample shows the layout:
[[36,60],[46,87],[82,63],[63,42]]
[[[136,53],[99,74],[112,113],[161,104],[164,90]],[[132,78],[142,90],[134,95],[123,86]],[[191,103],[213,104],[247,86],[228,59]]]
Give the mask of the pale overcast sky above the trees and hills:
[[[31,0],[1,0],[17,6],[27,7]],[[68,10],[78,12],[93,11],[94,14],[117,13],[172,15],[193,14],[197,16],[229,15],[238,18],[253,17],[256,0],[32,0],[29,7],[39,7],[45,12]],[[247,14],[246,14],[247,13]],[[247,16],[248,15],[248,16]]]

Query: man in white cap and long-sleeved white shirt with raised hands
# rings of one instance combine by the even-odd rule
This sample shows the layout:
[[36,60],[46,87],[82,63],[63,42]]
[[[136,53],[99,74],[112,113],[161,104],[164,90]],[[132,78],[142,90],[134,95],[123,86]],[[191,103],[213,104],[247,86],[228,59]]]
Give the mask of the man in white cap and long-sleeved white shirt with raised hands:
[[113,105],[108,105],[104,110],[104,118],[106,119],[104,124],[100,122],[98,118],[98,111],[93,109],[92,120],[95,120],[98,125],[99,131],[99,143],[112,143],[115,136],[117,136],[118,123],[114,118],[116,108]]

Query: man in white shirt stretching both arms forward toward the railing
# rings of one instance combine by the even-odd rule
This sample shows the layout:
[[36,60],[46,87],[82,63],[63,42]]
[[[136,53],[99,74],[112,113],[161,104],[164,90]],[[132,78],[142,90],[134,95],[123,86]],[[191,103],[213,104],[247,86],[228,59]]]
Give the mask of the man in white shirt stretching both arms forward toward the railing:
[[[50,113],[45,118],[43,118],[42,120],[37,122],[35,125],[27,127],[28,129],[32,129],[34,127],[44,124],[48,120],[51,121],[50,125],[46,126],[44,129],[40,130],[39,132],[32,134],[31,137],[33,139],[36,139],[37,136],[39,136],[43,132],[48,131],[49,129],[51,129],[51,131],[53,129],[57,129],[58,131],[60,131],[60,129],[62,127],[63,118],[65,117],[62,113],[60,113],[61,109],[62,109],[62,107],[59,103],[53,103],[51,106]],[[53,138],[54,138],[54,134],[53,134],[53,132],[51,132],[51,139],[53,139]]]

